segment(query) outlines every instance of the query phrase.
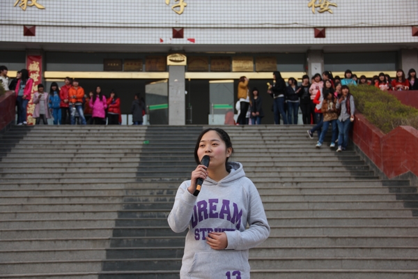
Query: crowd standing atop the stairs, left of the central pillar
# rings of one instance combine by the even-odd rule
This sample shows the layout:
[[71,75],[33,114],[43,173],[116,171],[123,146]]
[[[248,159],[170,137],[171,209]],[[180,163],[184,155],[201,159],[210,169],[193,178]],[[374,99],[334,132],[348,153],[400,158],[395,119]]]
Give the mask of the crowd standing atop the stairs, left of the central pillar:
[[[16,78],[9,81],[8,68],[0,66],[0,81],[6,91],[15,91],[17,106],[17,125],[26,125],[27,107],[31,100],[33,79],[29,77],[29,71],[22,69],[17,72]],[[54,125],[81,124],[81,125],[120,125],[121,99],[112,89],[109,97],[104,96],[100,86],[95,90],[85,93],[79,80],[65,77],[64,85],[59,88],[56,82],[52,82],[49,92],[43,84],[36,86],[33,93],[35,105],[32,117],[36,119],[36,125],[40,121],[47,125],[47,119],[54,119]],[[142,125],[143,116],[146,113],[144,99],[137,94],[132,102],[133,125]]]

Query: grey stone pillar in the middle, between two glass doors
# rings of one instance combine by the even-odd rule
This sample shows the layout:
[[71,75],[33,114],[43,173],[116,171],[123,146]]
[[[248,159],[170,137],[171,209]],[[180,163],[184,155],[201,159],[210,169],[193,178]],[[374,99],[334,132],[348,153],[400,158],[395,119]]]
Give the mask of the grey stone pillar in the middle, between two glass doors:
[[185,66],[169,66],[169,125],[185,125]]

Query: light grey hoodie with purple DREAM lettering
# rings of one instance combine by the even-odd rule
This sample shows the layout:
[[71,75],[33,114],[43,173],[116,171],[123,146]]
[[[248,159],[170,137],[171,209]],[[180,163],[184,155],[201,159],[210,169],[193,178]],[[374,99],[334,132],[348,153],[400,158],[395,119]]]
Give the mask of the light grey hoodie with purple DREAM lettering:
[[[256,186],[245,177],[240,163],[229,165],[231,172],[221,181],[209,177],[203,181],[198,197],[187,190],[189,180],[178,188],[168,221],[174,232],[189,229],[180,278],[249,278],[249,248],[270,234]],[[225,232],[228,247],[210,248],[208,232]]]

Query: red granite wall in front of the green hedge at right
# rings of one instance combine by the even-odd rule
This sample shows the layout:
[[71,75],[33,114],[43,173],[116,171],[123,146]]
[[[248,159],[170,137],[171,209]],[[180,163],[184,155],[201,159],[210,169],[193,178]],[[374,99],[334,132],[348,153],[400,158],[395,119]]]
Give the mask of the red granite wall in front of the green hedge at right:
[[356,114],[353,142],[392,179],[405,172],[418,176],[418,130],[400,126],[387,135]]

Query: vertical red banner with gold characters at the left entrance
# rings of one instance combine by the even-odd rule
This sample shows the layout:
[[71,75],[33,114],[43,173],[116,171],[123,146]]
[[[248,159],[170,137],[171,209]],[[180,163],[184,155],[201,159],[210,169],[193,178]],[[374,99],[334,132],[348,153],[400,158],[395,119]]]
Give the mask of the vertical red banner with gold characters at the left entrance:
[[38,91],[38,84],[42,81],[42,56],[40,55],[28,55],[26,57],[26,68],[29,71],[29,77],[33,80],[33,86],[31,89],[31,100],[27,107],[26,121],[28,125],[35,125],[36,119],[34,119],[33,111],[35,110],[35,104],[33,103],[33,93]]

